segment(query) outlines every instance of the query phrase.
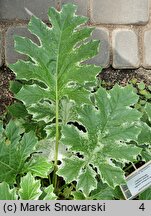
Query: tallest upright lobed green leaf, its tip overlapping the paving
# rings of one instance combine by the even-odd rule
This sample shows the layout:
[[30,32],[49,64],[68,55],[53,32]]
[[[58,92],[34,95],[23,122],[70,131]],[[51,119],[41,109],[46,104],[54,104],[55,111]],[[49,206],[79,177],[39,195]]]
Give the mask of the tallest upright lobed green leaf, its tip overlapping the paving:
[[33,80],[33,84],[24,85],[15,97],[27,106],[36,121],[47,123],[55,118],[65,96],[79,105],[81,101],[90,103],[89,91],[84,85],[89,81],[95,85],[101,67],[86,65],[83,61],[98,53],[99,41],[86,41],[93,28],[83,25],[88,19],[76,16],[76,10],[73,4],[64,5],[61,12],[50,8],[51,27],[33,16],[28,29],[37,36],[39,44],[15,37],[16,51],[27,55],[31,61],[19,60],[9,67],[17,80]]

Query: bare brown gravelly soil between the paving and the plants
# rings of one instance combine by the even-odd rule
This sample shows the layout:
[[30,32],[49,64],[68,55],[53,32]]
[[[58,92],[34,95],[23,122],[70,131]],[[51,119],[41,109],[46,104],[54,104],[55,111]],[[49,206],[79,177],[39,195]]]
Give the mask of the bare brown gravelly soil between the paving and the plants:
[[[110,83],[110,87],[116,83],[126,85],[129,80],[136,78],[138,82],[144,81],[151,85],[151,70],[139,68],[138,70],[103,69],[100,79]],[[5,66],[0,68],[0,115],[4,114],[6,107],[13,103],[13,95],[9,91],[9,81],[15,79],[14,74]]]

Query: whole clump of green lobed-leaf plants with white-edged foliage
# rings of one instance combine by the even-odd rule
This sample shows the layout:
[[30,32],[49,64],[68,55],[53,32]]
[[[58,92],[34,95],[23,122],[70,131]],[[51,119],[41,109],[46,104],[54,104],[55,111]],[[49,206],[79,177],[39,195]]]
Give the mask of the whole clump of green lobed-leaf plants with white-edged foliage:
[[150,156],[150,105],[146,123],[132,85],[97,87],[101,67],[85,61],[99,41],[76,9],[50,8],[51,27],[33,16],[39,44],[15,36],[28,60],[9,65],[17,120],[0,124],[0,199],[123,199],[125,165]]

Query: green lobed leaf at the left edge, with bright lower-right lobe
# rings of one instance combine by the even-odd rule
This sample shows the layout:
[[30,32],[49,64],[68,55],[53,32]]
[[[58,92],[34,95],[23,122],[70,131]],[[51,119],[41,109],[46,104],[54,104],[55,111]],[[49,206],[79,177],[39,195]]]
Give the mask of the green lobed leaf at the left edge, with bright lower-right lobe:
[[34,132],[30,131],[24,135],[20,133],[13,121],[9,122],[5,130],[1,127],[0,182],[14,183],[17,175],[27,171],[36,176],[46,177],[53,169],[52,163],[47,159],[31,157],[38,143]]

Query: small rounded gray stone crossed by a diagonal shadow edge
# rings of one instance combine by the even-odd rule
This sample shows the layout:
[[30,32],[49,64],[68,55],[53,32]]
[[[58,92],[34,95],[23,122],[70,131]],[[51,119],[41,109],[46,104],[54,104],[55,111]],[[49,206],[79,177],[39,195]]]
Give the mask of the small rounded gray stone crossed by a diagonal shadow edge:
[[133,30],[116,29],[112,34],[113,67],[139,67],[138,36]]

